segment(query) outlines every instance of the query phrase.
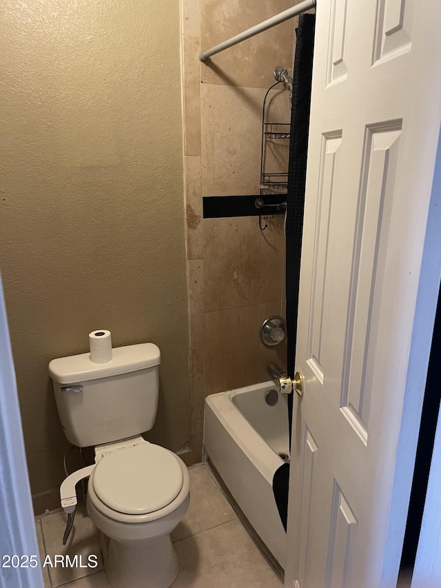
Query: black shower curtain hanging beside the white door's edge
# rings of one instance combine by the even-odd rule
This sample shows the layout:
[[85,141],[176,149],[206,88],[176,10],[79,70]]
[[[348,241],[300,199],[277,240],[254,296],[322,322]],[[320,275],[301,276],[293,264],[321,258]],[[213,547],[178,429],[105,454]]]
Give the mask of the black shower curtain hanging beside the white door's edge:
[[[294,80],[291,101],[291,139],[287,189],[287,369],[294,378],[296,356],[298,286],[302,246],[303,208],[305,203],[306,163],[308,150],[309,108],[311,105],[312,61],[314,54],[315,14],[300,14],[296,29]],[[293,392],[292,394],[295,394]],[[292,394],[288,396],[289,445],[291,446]],[[289,464],[281,465],[274,474],[273,491],[280,519],[287,530]]]

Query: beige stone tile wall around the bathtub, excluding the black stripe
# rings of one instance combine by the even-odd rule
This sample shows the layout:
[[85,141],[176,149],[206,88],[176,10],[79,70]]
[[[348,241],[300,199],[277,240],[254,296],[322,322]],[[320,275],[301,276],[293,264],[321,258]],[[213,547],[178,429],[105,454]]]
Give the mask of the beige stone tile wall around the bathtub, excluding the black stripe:
[[[262,107],[273,70],[293,63],[293,21],[201,64],[198,52],[282,10],[291,0],[181,0],[184,159],[187,207],[192,392],[191,460],[201,459],[207,394],[268,378],[267,364],[285,366],[286,345],[267,349],[258,330],[285,314],[283,216],[203,220],[202,196],[258,194]],[[273,91],[267,120],[289,122],[289,93]],[[288,144],[267,151],[271,171],[287,170]],[[267,168],[268,169],[268,168]]]

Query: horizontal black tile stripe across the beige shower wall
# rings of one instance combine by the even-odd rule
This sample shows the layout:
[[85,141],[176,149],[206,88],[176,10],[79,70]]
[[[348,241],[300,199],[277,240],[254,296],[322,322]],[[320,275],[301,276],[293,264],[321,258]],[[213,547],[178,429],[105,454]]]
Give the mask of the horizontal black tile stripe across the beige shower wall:
[[[256,198],[265,205],[257,208]],[[203,218],[221,219],[226,216],[258,216],[259,214],[285,214],[285,210],[267,206],[286,202],[286,194],[246,194],[241,196],[203,196]]]

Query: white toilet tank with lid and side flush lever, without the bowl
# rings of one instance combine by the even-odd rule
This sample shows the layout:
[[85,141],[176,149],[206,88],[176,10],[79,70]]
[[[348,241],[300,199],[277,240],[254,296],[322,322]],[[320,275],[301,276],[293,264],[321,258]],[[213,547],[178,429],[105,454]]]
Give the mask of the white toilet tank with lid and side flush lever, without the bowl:
[[161,352],[153,343],[53,359],[49,374],[64,434],[73,445],[101,445],[149,431],[156,419]]

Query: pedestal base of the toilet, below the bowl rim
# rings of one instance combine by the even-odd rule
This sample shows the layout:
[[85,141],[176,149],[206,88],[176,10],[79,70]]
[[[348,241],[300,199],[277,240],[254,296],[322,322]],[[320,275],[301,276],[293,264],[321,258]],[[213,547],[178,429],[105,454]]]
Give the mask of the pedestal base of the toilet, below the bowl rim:
[[144,541],[110,539],[105,572],[112,588],[169,588],[178,571],[170,535]]

